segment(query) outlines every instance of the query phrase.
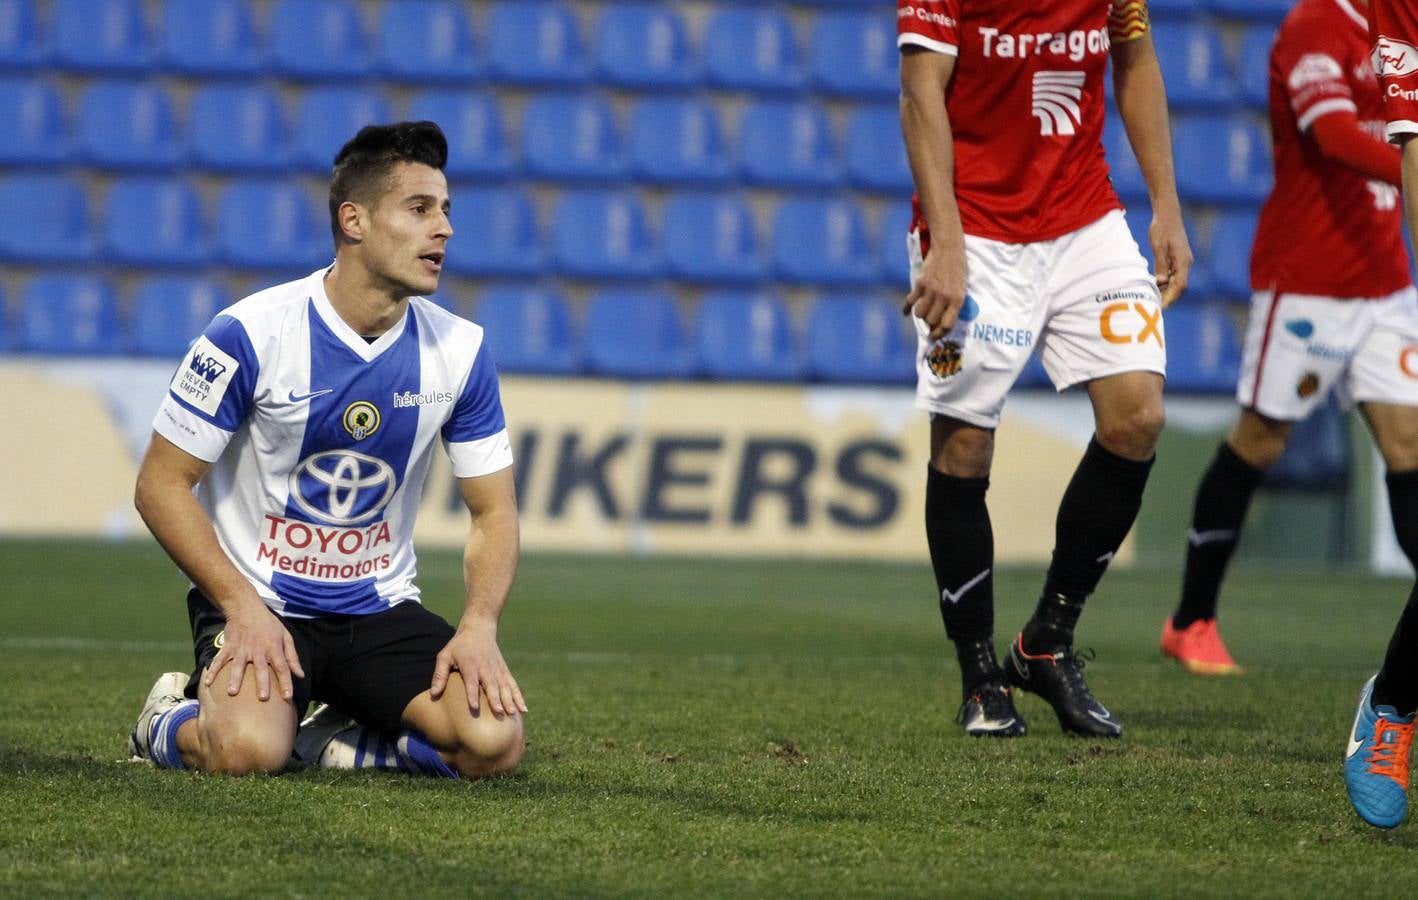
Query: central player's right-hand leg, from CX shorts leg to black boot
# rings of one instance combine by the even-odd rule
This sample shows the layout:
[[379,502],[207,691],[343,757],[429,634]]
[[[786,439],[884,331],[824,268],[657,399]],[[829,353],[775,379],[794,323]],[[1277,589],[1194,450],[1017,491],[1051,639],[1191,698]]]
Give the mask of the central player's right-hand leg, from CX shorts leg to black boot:
[[1048,700],[1065,731],[1117,737],[1122,726],[1083,680],[1073,628],[1137,517],[1151,471],[1164,420],[1161,303],[1120,213],[1044,248],[1041,357],[1061,390],[1086,387],[1095,435],[1059,503],[1044,590],[1010,645],[1005,675]]

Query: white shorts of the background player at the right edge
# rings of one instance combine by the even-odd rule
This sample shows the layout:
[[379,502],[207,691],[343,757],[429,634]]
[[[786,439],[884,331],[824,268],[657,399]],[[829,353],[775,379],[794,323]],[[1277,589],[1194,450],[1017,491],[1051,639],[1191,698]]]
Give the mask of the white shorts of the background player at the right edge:
[[1339,390],[1356,403],[1418,405],[1418,293],[1340,299],[1256,291],[1236,400],[1295,422]]

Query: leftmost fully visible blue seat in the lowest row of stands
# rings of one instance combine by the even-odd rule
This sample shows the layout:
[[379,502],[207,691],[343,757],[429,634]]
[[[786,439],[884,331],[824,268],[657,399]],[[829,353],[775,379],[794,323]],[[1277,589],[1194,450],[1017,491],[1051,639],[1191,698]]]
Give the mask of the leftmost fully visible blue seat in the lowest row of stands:
[[35,275],[20,296],[21,350],[101,356],[122,350],[113,289],[88,275]]

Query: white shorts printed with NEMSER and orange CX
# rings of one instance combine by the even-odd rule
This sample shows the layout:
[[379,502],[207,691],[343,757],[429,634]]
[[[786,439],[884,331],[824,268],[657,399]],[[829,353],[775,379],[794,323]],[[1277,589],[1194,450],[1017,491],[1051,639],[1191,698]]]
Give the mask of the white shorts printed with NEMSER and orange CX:
[[[920,235],[910,232],[910,281]],[[1161,298],[1147,261],[1113,210],[1052,241],[966,235],[966,302],[949,334],[916,325],[916,407],[995,428],[1004,395],[1037,351],[1062,391],[1123,371],[1166,374]]]

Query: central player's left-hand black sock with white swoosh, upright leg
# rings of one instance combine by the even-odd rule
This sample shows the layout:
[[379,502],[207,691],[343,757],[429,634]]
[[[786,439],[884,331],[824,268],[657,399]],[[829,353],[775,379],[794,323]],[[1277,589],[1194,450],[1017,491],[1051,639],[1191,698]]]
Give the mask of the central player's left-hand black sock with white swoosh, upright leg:
[[[956,478],[927,468],[926,543],[940,591],[940,619],[960,655],[963,677],[998,673],[994,651],[994,530],[984,495],[988,478]],[[968,659],[967,659],[968,656]]]

